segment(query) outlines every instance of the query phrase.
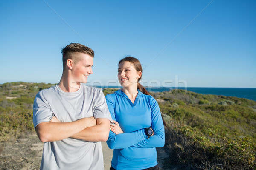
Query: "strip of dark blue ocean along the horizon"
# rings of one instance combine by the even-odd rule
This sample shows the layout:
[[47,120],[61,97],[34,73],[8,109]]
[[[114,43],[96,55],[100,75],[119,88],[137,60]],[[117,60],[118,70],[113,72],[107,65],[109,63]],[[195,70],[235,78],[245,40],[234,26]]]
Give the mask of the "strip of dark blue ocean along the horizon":
[[[121,88],[120,86],[98,86],[99,88]],[[175,89],[175,87],[146,87],[148,91],[162,92]],[[183,89],[179,87],[178,89]],[[256,88],[194,88],[188,87],[188,91],[200,94],[214,94],[223,96],[235,96],[256,101]]]

